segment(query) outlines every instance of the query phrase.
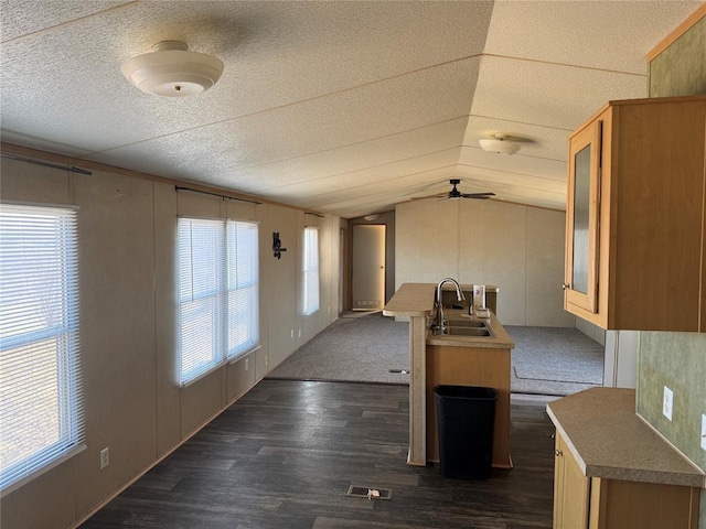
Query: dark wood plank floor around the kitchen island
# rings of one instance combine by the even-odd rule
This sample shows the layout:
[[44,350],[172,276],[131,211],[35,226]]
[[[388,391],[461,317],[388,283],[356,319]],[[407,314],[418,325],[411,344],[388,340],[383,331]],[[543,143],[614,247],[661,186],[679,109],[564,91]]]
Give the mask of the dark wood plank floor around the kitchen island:
[[82,528],[552,527],[544,407],[512,407],[515,467],[489,481],[408,466],[407,412],[406,386],[264,380]]

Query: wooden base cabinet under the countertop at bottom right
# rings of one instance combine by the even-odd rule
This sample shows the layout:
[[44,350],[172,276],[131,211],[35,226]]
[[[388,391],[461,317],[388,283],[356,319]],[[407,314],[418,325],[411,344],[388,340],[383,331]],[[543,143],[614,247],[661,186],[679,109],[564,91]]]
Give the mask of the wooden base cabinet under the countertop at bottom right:
[[698,527],[699,488],[587,477],[558,433],[555,455],[554,529]]

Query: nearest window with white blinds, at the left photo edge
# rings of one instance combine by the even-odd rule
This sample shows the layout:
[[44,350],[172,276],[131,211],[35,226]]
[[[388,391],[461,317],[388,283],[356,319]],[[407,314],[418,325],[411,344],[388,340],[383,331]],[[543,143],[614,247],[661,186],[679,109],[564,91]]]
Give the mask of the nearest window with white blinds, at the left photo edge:
[[83,443],[76,210],[0,207],[0,488]]

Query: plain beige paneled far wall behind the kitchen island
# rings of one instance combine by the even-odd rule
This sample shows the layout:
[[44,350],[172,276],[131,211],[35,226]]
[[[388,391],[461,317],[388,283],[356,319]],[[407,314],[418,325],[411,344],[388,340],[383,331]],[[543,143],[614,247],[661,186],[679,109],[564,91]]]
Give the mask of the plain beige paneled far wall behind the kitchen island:
[[574,326],[563,309],[564,212],[496,201],[415,201],[396,209],[395,281],[495,284],[505,325]]

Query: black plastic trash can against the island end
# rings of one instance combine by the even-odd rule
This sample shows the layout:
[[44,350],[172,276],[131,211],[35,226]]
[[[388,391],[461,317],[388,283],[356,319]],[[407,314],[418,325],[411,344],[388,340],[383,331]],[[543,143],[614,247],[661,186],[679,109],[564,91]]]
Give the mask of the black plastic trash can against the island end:
[[488,479],[493,462],[495,390],[437,386],[434,396],[441,475],[454,479]]

